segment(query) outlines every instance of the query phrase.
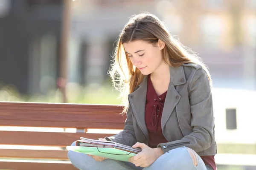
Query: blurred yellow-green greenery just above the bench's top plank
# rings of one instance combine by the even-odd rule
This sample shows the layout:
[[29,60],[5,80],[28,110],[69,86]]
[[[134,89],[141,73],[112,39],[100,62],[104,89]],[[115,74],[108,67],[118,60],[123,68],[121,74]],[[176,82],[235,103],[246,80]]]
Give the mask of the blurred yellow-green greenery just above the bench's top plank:
[[[91,84],[85,87],[70,83],[66,88],[68,103],[109,104],[120,105],[121,98],[110,83],[103,85]],[[20,94],[12,85],[0,85],[0,101],[8,102],[62,102],[62,93],[59,89],[48,91],[47,94]]]

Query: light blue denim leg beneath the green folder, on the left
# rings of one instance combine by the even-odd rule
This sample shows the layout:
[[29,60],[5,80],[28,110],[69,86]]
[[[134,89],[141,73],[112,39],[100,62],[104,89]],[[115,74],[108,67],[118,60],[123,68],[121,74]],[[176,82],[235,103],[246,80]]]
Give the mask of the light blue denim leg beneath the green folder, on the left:
[[[72,145],[74,146],[75,143]],[[131,166],[123,161],[105,159],[104,161],[96,161],[92,157],[84,153],[74,151],[68,152],[70,162],[79,170],[134,170]]]

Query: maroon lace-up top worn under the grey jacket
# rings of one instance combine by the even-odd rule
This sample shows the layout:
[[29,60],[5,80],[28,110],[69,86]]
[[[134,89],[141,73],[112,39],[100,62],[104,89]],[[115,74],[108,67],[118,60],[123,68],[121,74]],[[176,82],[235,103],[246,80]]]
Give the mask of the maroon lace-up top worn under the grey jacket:
[[[167,91],[157,96],[156,91],[152,85],[150,75],[148,75],[148,90],[145,105],[145,123],[148,129],[149,146],[157,147],[160,143],[168,142],[163,136],[161,127],[161,118],[163,113],[163,105],[166,98]],[[216,170],[214,156],[201,156],[206,165],[210,165],[213,170]]]

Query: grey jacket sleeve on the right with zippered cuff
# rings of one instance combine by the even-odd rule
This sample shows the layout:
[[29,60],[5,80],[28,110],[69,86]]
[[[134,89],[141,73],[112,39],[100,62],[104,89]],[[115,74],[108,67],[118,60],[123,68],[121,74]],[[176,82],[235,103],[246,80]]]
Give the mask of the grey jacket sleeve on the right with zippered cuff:
[[162,147],[164,152],[181,146],[200,152],[209,148],[213,142],[214,117],[209,79],[203,69],[198,69],[192,74],[194,75],[188,82],[188,94],[193,131],[180,140],[158,144],[157,147]]

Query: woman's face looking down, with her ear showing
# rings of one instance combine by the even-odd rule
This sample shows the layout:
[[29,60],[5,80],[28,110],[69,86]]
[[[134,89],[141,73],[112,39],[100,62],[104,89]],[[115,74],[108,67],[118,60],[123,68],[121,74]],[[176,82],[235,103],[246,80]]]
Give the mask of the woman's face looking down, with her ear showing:
[[153,73],[164,64],[161,50],[165,44],[161,40],[154,45],[143,40],[125,42],[123,45],[131,63],[144,75]]

